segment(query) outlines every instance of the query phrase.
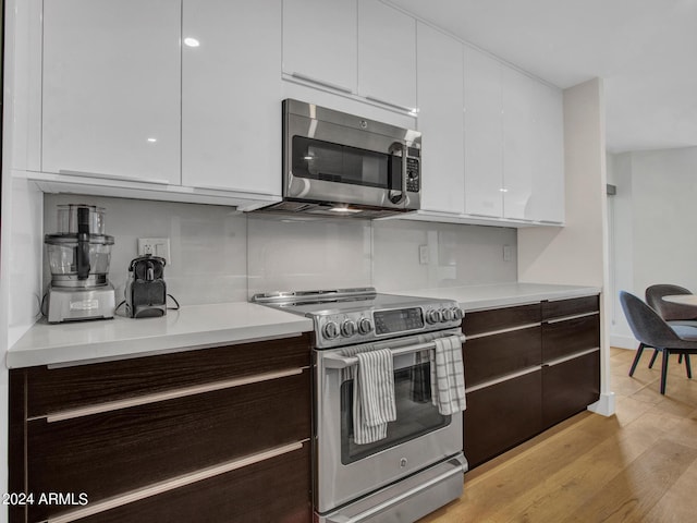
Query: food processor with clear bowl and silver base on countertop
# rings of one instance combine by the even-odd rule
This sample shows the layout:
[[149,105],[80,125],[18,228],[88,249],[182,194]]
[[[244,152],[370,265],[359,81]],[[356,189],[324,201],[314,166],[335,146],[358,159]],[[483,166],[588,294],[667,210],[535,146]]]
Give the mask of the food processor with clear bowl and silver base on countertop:
[[113,318],[115,293],[107,279],[113,236],[105,234],[105,209],[59,205],[58,229],[44,238],[51,269],[49,324]]

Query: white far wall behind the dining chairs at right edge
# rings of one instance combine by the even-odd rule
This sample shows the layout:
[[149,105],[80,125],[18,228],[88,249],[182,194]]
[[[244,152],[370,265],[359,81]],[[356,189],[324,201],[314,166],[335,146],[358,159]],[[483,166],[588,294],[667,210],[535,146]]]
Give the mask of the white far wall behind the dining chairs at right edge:
[[614,254],[615,346],[636,348],[621,312],[617,292],[644,297],[647,287],[674,283],[697,292],[697,147],[609,155],[614,196],[611,245]]

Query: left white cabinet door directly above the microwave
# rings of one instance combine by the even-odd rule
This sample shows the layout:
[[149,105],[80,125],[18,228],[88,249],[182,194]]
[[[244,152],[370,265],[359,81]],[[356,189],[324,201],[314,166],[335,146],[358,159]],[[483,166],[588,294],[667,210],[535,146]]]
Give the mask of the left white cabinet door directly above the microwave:
[[283,72],[355,93],[356,1],[283,0]]

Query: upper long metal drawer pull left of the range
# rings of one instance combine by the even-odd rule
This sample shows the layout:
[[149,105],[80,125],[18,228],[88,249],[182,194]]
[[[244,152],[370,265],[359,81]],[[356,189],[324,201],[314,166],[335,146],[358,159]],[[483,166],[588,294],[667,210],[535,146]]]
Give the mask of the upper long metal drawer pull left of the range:
[[125,400],[107,401],[105,403],[97,403],[95,405],[82,406],[77,409],[70,409],[65,411],[58,411],[46,416],[35,416],[28,418],[28,421],[46,418],[48,423],[63,422],[65,419],[73,419],[75,417],[90,416],[93,414],[101,414],[105,412],[117,411],[119,409],[127,409],[130,406],[146,405],[148,403],[157,403],[159,401],[172,400],[175,398],[185,398],[187,396],[201,394],[204,392],[212,392],[215,390],[230,389],[232,387],[241,387],[243,385],[258,384],[261,381],[268,381],[271,379],[286,378],[290,376],[296,376],[303,374],[303,368],[291,368],[288,370],[280,370],[278,373],[256,374],[254,376],[245,376],[243,378],[225,379],[223,381],[213,381],[212,384],[195,385],[192,387],[184,387],[181,389],[174,389],[167,392],[157,392],[154,394],[145,394],[135,398],[127,398]]

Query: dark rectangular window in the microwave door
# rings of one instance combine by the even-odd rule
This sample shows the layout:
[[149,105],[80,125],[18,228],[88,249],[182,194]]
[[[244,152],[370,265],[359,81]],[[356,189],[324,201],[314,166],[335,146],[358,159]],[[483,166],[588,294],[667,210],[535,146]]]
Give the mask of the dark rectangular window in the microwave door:
[[399,190],[402,158],[330,142],[293,136],[293,175]]

